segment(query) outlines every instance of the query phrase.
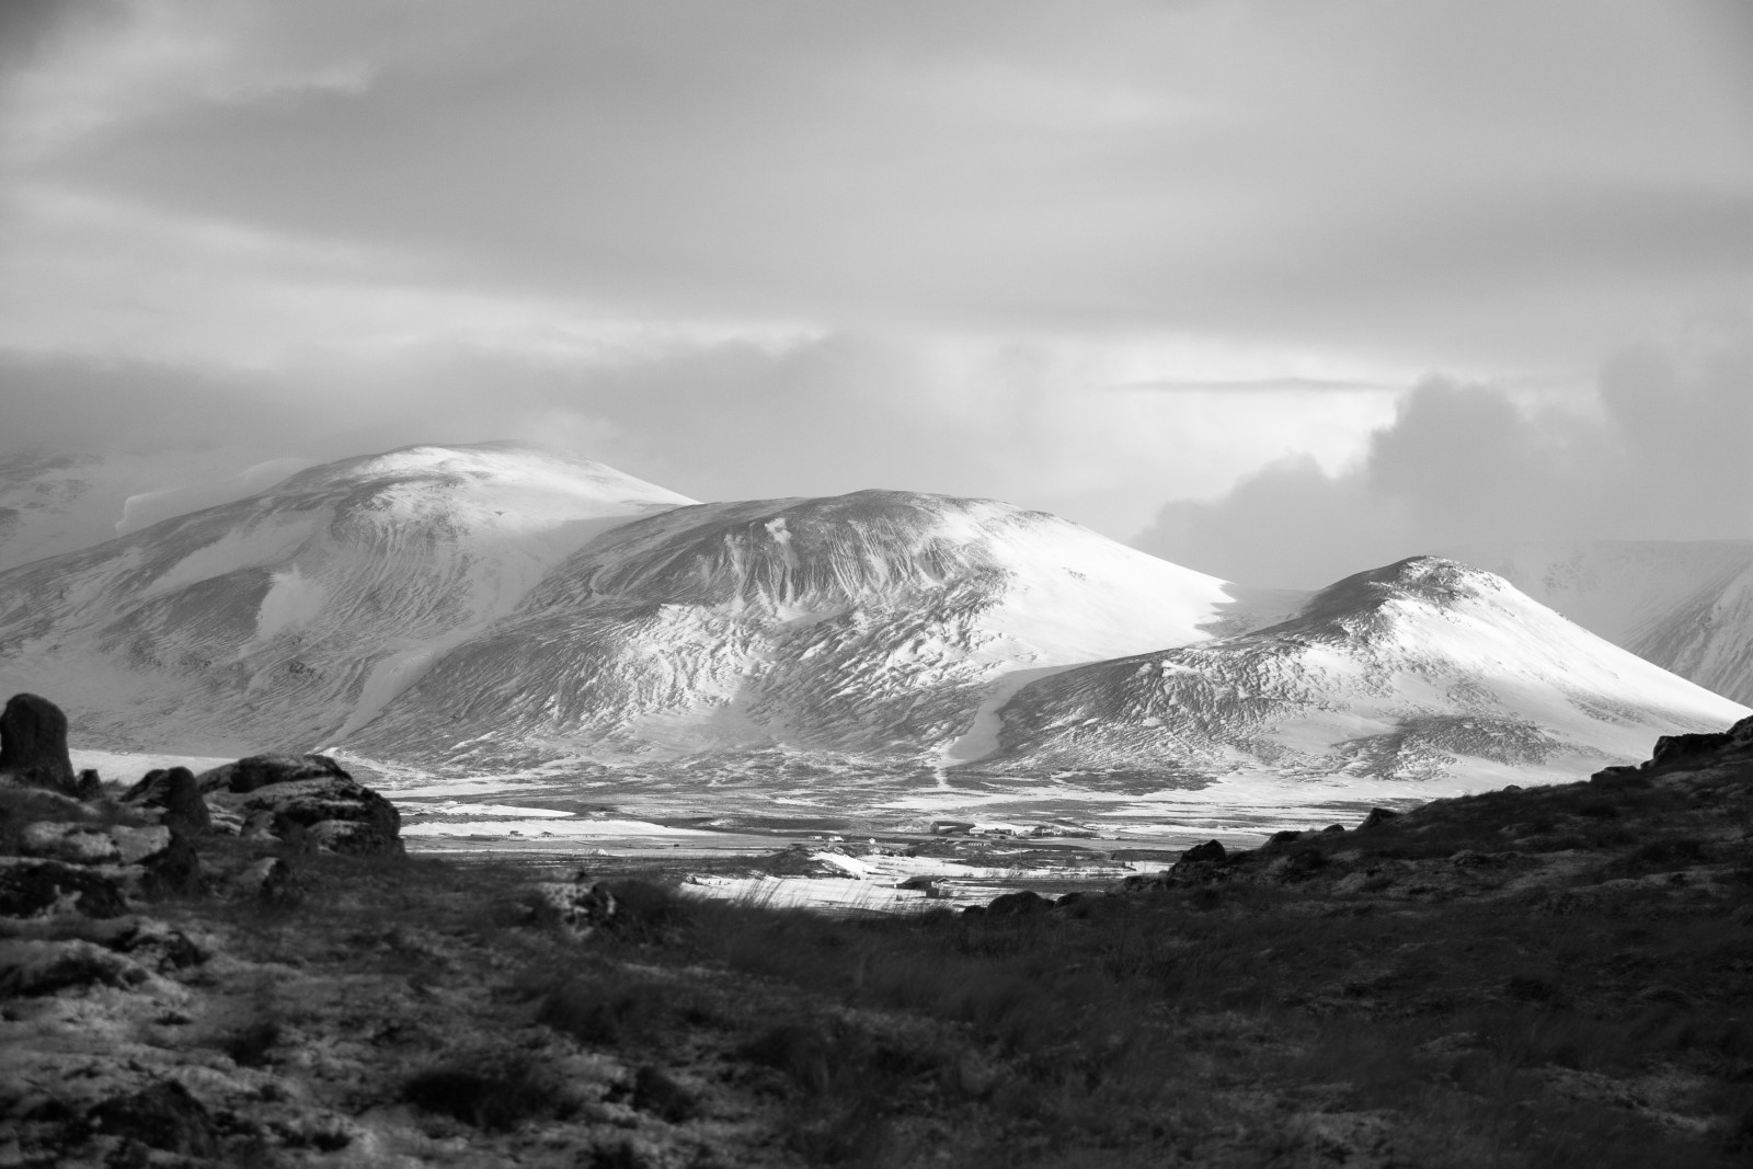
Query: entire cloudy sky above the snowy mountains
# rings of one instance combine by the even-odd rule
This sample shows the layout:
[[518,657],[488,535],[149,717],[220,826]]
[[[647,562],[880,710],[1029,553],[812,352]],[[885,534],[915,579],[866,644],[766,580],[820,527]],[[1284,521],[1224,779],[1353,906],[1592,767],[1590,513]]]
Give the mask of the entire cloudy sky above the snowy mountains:
[[1749,394],[1744,0],[0,2],[0,454],[526,438],[1313,585],[1749,538]]

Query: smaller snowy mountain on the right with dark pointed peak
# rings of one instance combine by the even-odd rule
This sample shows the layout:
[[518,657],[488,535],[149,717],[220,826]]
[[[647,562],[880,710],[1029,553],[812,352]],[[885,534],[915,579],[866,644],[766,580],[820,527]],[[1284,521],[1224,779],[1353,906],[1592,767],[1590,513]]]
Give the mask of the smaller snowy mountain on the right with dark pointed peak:
[[1004,769],[1539,782],[1746,713],[1437,557],[1348,577],[1292,620],[1033,682]]

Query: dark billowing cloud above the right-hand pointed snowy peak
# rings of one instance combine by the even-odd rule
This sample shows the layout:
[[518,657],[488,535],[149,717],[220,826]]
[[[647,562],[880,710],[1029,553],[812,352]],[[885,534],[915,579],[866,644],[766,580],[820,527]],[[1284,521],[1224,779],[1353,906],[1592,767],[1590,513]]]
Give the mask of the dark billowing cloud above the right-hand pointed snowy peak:
[[1753,536],[1753,328],[1622,351],[1592,410],[1434,379],[1364,456],[1287,457],[1217,499],[1166,505],[1134,543],[1232,580],[1315,587],[1457,543]]

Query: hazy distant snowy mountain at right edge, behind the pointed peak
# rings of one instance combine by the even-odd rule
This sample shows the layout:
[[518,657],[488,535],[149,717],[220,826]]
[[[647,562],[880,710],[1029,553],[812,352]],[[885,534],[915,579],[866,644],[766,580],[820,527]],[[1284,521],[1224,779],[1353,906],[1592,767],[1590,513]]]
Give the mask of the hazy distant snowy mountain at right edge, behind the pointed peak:
[[1453,556],[1664,670],[1753,703],[1753,540],[1501,543]]

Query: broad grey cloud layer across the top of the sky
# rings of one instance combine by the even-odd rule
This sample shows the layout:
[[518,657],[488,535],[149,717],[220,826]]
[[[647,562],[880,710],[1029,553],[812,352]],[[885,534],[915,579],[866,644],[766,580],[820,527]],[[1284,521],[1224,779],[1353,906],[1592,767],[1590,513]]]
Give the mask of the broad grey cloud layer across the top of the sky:
[[130,11],[16,103],[74,128],[21,191],[424,286],[1453,368],[1600,352],[1753,266],[1746,86],[1709,5]]

